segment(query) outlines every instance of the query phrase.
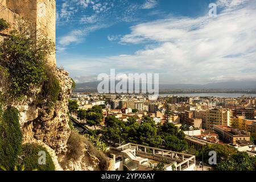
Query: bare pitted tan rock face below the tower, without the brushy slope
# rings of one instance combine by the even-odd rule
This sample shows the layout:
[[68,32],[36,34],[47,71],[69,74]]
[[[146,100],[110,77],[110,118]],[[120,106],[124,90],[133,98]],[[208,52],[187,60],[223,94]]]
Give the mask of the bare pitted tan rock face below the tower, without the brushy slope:
[[[24,97],[22,101],[6,98],[5,106],[13,106],[19,110],[19,123],[23,133],[23,143],[38,143],[47,148],[52,156],[56,169],[61,170],[57,154],[67,150],[70,135],[68,125],[68,98],[71,94],[72,80],[64,70],[56,69],[56,77],[60,82],[60,93],[52,109],[38,103],[36,97]],[[0,91],[7,92],[8,81],[5,77],[0,83]],[[40,93],[35,88],[32,93]]]

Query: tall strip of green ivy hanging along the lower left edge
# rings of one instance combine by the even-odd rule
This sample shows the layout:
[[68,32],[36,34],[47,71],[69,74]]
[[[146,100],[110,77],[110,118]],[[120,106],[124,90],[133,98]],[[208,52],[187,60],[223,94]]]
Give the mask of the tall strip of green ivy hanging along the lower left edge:
[[19,125],[19,112],[7,107],[0,120],[0,166],[11,170],[21,151],[22,132]]

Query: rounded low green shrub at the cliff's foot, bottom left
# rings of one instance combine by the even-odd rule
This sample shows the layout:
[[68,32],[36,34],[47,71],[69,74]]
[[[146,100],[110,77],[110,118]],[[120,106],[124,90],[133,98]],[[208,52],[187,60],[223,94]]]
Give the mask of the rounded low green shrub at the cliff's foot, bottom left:
[[[46,154],[45,164],[42,163],[43,158],[42,160],[40,158],[44,152]],[[24,166],[25,171],[35,169],[38,171],[55,171],[55,165],[46,148],[38,144],[23,144],[20,156],[22,159],[19,160],[19,166]]]

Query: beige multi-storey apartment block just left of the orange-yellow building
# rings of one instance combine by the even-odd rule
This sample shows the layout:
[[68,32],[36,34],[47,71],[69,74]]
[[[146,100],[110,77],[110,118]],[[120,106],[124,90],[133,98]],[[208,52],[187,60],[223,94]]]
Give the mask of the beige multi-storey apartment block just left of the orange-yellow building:
[[229,109],[211,109],[206,111],[205,129],[213,129],[214,125],[230,126]]

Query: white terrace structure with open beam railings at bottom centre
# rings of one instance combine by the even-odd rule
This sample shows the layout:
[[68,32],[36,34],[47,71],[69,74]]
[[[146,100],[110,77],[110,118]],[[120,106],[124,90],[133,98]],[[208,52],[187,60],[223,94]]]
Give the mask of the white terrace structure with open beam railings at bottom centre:
[[150,164],[154,166],[165,160],[166,171],[195,171],[196,158],[194,155],[183,154],[127,143],[120,147],[109,148],[115,162],[115,171],[148,171]]

